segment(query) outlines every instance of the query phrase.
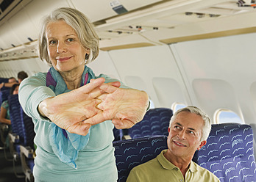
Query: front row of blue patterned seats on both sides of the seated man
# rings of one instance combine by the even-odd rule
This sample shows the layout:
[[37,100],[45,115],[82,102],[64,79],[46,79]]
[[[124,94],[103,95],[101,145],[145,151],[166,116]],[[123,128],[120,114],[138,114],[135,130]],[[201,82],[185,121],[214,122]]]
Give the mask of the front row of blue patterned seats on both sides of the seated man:
[[[146,136],[113,142],[118,182],[127,180],[130,170],[154,159],[167,149],[167,136]],[[207,144],[193,156],[199,166],[210,170],[221,182],[256,182],[253,133],[250,125],[212,125]]]

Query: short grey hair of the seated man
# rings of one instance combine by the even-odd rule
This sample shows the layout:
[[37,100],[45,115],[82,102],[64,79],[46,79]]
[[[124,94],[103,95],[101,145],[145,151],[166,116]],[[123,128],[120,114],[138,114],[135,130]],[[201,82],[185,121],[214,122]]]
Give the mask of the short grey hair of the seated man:
[[212,127],[212,125],[210,123],[210,117],[208,117],[208,115],[205,112],[203,112],[201,109],[199,109],[196,106],[187,106],[187,107],[177,110],[177,112],[174,113],[174,115],[171,117],[171,120],[170,120],[170,124],[169,124],[170,127],[171,127],[171,123],[174,122],[174,120],[176,119],[177,114],[179,114],[179,112],[191,112],[191,113],[201,116],[202,120],[205,121],[205,125],[202,128],[201,142],[204,140],[207,140],[207,137],[209,136],[210,130]]

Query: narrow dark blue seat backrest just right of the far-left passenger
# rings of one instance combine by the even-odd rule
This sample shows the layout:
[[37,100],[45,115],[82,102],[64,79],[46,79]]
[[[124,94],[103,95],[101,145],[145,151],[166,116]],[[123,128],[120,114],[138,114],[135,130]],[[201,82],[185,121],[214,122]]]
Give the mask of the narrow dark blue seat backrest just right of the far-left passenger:
[[23,123],[21,122],[21,104],[18,101],[17,95],[9,95],[9,109],[10,109],[10,120],[12,125],[12,132],[18,134],[20,142],[24,142],[24,134],[22,132]]

